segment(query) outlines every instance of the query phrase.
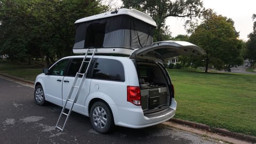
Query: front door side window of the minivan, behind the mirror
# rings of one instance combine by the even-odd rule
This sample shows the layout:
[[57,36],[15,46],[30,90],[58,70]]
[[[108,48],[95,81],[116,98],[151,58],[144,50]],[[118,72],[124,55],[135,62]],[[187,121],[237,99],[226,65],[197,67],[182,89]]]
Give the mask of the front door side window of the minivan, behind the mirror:
[[51,67],[50,75],[57,75],[63,76],[67,74],[67,67],[68,67],[69,59],[64,59],[56,63],[53,67]]

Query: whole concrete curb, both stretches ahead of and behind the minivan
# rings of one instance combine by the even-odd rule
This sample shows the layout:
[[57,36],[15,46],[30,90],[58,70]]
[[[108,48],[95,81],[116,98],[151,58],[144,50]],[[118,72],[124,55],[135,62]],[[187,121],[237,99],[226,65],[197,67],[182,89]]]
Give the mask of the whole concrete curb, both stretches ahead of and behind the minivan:
[[[25,79],[22,79],[22,78],[19,78],[19,77],[10,76],[10,75],[6,75],[6,74],[3,74],[3,73],[0,73],[0,75],[2,75],[4,77],[7,77],[7,78],[10,78],[10,79],[13,79],[13,80],[18,81],[18,82],[34,85],[34,82],[28,81],[28,80],[25,80]],[[219,133],[221,135],[237,138],[239,140],[245,140],[245,141],[250,141],[250,142],[256,143],[256,137],[253,137],[253,136],[250,136],[250,135],[230,132],[230,131],[225,130],[225,129],[219,129],[219,128],[211,127],[211,126],[208,126],[208,125],[205,125],[205,124],[185,121],[185,120],[177,119],[177,118],[172,118],[169,121],[177,123],[177,124],[181,124],[181,125],[188,125],[190,127],[196,128],[196,129],[202,129],[202,130],[206,130],[206,131],[213,132],[213,133]]]

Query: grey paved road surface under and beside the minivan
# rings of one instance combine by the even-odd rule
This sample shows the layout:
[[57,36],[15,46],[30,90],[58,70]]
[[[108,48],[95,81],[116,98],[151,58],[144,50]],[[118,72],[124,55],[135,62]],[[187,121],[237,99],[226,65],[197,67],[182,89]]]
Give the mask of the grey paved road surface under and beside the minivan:
[[0,143],[218,143],[162,124],[146,129],[116,127],[103,135],[92,130],[89,118],[77,113],[60,132],[54,126],[61,107],[35,105],[33,91],[0,77]]

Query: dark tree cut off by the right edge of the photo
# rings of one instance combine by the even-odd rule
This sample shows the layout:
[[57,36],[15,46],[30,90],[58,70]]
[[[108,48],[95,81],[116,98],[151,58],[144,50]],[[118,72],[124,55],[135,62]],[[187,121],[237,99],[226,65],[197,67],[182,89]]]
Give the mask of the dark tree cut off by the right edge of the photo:
[[252,15],[253,32],[248,35],[247,49],[245,52],[245,58],[249,59],[251,67],[254,66],[256,61],[256,14]]

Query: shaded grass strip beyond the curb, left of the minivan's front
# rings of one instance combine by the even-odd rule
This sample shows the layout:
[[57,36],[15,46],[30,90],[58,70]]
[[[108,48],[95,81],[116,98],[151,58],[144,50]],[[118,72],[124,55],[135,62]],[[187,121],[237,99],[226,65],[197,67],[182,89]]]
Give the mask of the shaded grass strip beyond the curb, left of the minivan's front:
[[26,68],[11,62],[0,62],[0,73],[20,77],[29,81],[35,81],[36,75],[42,73],[42,69]]

